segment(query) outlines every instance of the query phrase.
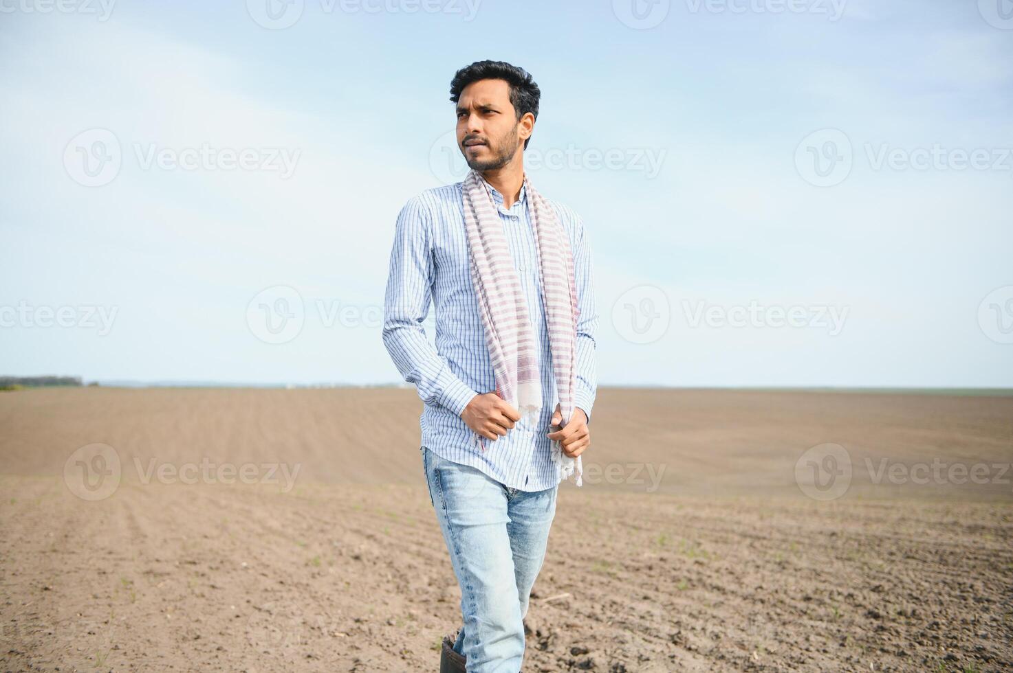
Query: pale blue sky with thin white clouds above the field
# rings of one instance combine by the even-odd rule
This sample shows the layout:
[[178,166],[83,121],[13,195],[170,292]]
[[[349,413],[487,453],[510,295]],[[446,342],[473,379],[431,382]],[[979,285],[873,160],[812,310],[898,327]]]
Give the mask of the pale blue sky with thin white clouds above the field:
[[483,59],[600,385],[1013,387],[1010,0],[0,0],[0,374],[400,382],[395,219]]

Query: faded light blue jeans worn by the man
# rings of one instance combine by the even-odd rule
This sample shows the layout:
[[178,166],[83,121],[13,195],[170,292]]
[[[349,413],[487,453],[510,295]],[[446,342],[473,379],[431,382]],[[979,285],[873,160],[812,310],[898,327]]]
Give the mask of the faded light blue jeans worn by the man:
[[[491,450],[495,450],[492,448]],[[558,485],[520,491],[421,447],[422,467],[461,586],[454,650],[468,673],[518,673],[528,597],[545,559]]]

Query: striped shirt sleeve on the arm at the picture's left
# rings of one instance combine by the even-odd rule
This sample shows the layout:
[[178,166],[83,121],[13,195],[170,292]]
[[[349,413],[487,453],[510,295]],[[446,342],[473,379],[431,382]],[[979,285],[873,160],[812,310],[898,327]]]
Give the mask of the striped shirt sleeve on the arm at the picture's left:
[[478,393],[462,382],[425,338],[422,321],[433,299],[432,220],[417,196],[401,208],[394,230],[384,296],[383,343],[401,377],[426,404],[460,416]]

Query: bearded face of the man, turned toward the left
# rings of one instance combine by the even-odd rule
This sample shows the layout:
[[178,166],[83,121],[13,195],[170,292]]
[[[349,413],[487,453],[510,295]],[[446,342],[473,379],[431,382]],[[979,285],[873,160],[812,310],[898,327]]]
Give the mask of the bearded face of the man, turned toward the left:
[[464,87],[457,103],[457,146],[468,167],[492,170],[518,157],[524,138],[531,135],[528,117],[534,119],[530,113],[517,118],[503,80],[478,80]]

